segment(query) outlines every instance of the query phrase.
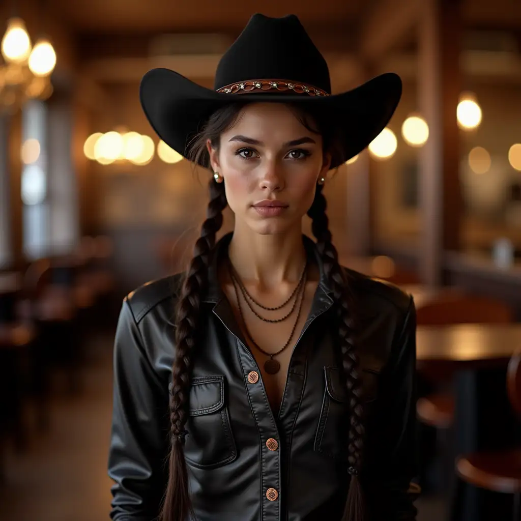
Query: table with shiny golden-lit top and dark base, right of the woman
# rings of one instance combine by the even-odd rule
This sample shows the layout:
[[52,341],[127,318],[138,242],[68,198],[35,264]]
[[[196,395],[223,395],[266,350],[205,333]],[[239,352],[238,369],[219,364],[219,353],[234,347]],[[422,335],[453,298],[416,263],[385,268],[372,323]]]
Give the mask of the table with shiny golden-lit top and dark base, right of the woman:
[[[521,439],[506,394],[507,362],[518,349],[521,324],[417,327],[417,361],[450,366],[448,374],[454,375],[451,461],[458,454],[500,449]],[[491,497],[487,491],[453,479],[457,492],[451,519],[488,521],[491,513],[498,519],[512,518],[508,513],[512,498]]]

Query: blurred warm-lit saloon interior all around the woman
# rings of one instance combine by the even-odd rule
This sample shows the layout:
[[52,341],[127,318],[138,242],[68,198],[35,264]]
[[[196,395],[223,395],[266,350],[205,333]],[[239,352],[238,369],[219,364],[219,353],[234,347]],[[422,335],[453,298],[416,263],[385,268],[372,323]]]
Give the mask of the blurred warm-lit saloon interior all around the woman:
[[388,128],[330,172],[333,240],[415,297],[418,519],[521,519],[518,0],[3,0],[0,519],[108,518],[121,300],[190,259],[209,178],[158,140],[139,82],[213,88],[257,10],[299,16],[333,93],[402,77]]

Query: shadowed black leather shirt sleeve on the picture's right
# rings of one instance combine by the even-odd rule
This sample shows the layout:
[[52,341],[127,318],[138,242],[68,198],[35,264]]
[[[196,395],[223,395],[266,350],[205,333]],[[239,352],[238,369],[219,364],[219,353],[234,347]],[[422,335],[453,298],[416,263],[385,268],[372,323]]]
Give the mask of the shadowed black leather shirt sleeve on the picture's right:
[[363,483],[371,521],[412,521],[419,487],[416,443],[416,311],[411,297],[403,327],[380,373],[366,425]]

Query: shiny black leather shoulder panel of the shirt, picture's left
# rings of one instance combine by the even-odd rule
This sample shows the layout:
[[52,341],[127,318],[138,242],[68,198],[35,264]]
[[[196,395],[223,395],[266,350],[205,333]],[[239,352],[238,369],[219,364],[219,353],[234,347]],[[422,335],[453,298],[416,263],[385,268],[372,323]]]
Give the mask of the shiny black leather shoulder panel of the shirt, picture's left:
[[124,299],[129,305],[135,321],[139,322],[160,305],[169,307],[175,303],[180,288],[182,273],[151,280],[131,291]]

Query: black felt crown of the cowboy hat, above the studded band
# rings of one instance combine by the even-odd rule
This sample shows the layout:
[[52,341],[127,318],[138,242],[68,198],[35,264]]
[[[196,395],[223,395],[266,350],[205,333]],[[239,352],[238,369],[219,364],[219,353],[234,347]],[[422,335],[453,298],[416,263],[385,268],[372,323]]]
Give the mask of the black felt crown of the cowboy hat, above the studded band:
[[331,93],[326,60],[295,15],[253,15],[222,55],[214,89],[260,79],[302,82]]

